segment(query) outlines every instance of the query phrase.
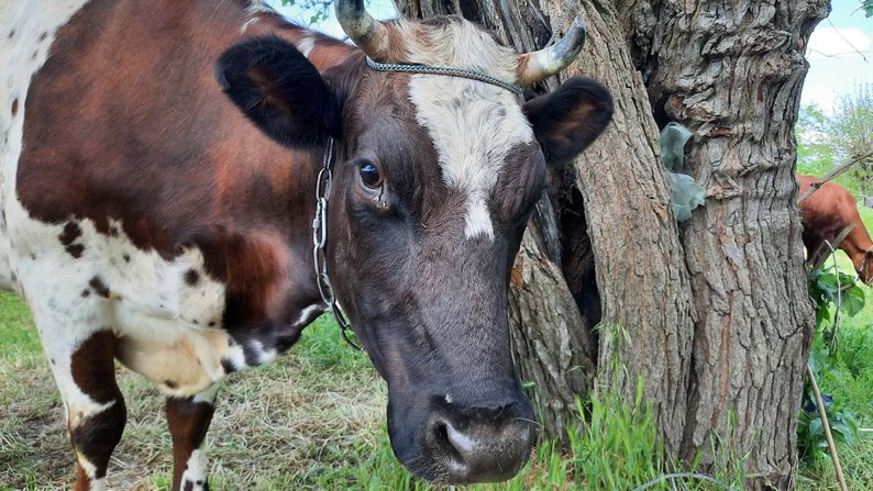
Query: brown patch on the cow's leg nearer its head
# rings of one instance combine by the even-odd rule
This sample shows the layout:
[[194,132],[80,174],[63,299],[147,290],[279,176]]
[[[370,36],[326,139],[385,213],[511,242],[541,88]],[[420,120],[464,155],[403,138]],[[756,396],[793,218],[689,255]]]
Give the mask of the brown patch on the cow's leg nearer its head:
[[[212,404],[194,402],[192,398],[167,399],[167,424],[173,437],[173,489],[179,489],[188,459],[202,445],[214,412]],[[186,482],[186,487],[189,483]]]

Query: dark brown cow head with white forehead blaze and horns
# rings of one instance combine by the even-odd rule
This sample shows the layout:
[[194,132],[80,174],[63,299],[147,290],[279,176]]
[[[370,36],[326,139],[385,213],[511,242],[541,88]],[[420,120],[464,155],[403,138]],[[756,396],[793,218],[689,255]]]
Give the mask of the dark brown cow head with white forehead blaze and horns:
[[[572,59],[554,49],[519,56],[460,18],[380,23],[361,0],[336,9],[377,62],[531,83]],[[329,269],[388,383],[397,457],[440,482],[508,479],[534,436],[510,353],[510,268],[546,166],[603,132],[611,99],[573,79],[522,103],[482,81],[375,71],[347,51],[319,71],[286,41],[250,40],[222,56],[218,78],[279,143],[323,149],[335,141]]]

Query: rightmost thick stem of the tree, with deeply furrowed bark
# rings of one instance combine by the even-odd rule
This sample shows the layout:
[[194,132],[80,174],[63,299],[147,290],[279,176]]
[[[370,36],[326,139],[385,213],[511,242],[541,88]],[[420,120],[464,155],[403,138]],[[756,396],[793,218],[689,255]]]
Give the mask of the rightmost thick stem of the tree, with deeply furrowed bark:
[[718,435],[749,456],[754,488],[787,488],[813,330],[793,129],[804,47],[829,4],[630,0],[618,8],[655,118],[692,130],[687,171],[707,189],[683,233],[699,312],[683,455],[708,451]]

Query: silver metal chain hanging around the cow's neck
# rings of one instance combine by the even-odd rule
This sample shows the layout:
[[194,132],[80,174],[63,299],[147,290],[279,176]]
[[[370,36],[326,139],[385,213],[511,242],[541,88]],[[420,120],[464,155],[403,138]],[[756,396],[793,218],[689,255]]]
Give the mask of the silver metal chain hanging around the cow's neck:
[[352,325],[345,319],[345,315],[340,310],[336,303],[336,297],[333,294],[333,287],[331,286],[330,276],[328,275],[328,201],[331,196],[331,188],[333,186],[333,138],[328,142],[328,148],[324,152],[324,160],[321,165],[321,170],[318,172],[316,179],[316,217],[312,220],[312,258],[316,266],[316,283],[318,291],[321,294],[321,300],[328,305],[336,324],[340,325],[340,332],[343,339],[355,349],[364,349],[358,344],[349,338],[349,328]]

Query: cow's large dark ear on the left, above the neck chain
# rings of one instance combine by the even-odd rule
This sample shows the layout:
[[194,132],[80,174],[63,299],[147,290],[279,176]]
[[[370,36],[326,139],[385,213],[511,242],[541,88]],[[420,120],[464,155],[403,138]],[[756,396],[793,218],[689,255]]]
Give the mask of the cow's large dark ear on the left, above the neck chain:
[[279,37],[255,37],[216,62],[221,89],[257,127],[297,148],[323,146],[342,131],[342,108],[321,74]]

